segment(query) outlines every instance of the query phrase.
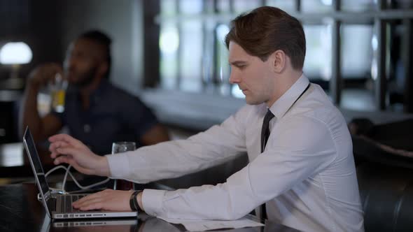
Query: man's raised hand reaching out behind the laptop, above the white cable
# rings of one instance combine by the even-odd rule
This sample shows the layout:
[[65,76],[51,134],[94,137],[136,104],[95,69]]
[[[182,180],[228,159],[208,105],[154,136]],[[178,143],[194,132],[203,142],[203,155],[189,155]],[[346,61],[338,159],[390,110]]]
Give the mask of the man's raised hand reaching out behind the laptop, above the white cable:
[[79,140],[66,135],[58,134],[49,138],[52,152],[50,157],[57,164],[70,164],[80,173],[87,175],[109,176],[109,164],[106,157],[94,154]]

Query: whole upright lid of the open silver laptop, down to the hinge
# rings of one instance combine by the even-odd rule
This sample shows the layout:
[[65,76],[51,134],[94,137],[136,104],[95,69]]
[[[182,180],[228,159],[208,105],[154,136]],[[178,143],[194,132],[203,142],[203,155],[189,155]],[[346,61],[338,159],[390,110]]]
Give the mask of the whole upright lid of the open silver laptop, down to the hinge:
[[40,158],[38,157],[36,145],[34,144],[33,137],[31,136],[29,126],[26,127],[25,135],[23,136],[23,144],[25,144],[27,157],[29,157],[30,166],[33,169],[34,179],[36,180],[38,191],[41,195],[41,201],[46,212],[48,213],[48,216],[51,217],[50,209],[48,208],[47,203],[48,198],[51,196],[49,184],[46,181],[43,166],[41,165]]

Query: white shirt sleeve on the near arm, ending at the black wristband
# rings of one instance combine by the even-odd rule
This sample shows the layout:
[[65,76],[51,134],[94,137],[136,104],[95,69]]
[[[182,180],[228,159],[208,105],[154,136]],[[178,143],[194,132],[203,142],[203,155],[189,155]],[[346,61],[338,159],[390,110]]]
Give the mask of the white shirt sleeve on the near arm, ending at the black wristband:
[[277,122],[265,152],[227,182],[176,191],[146,189],[144,210],[174,219],[239,219],[322,171],[334,161],[335,147],[323,122],[289,117]]

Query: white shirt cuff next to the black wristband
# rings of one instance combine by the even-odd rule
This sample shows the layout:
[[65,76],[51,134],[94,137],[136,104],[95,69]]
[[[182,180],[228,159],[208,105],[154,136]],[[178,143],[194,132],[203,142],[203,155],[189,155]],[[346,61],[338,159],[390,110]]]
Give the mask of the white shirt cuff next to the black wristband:
[[163,201],[166,190],[145,189],[142,193],[142,206],[144,211],[153,217],[163,214]]

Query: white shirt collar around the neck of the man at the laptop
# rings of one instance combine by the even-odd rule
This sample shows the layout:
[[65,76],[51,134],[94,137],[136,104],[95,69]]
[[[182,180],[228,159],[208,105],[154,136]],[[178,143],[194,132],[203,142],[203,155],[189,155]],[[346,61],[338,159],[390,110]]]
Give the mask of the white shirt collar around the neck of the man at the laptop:
[[293,106],[293,103],[304,92],[304,89],[309,85],[308,78],[304,73],[298,80],[287,90],[278,100],[276,100],[269,110],[276,118],[281,118]]

